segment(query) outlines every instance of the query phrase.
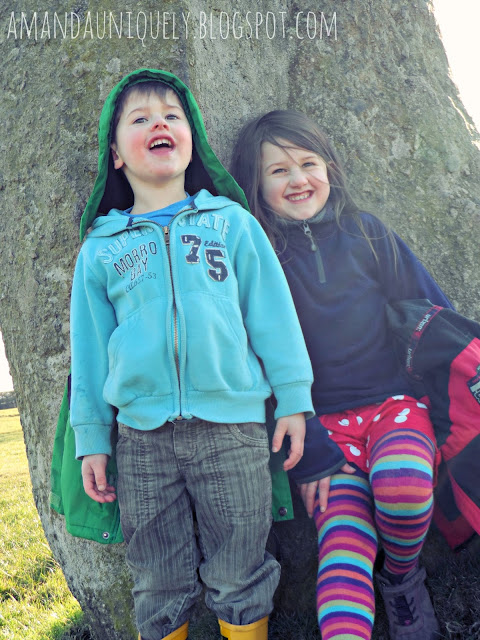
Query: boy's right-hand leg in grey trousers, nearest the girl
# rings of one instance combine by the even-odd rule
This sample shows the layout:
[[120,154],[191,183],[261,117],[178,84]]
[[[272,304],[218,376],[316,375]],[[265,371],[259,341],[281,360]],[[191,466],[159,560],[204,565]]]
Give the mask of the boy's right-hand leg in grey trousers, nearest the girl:
[[195,505],[207,606],[230,625],[257,622],[272,610],[280,577],[265,552],[272,519],[265,427],[202,422],[176,427],[175,443]]

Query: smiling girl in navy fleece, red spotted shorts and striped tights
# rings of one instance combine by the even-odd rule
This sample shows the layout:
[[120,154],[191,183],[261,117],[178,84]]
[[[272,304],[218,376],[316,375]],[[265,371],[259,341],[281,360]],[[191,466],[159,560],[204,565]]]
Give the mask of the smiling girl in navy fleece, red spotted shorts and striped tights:
[[314,370],[319,418],[293,477],[318,529],[322,638],[371,638],[380,541],[391,639],[433,640],[438,623],[418,559],[432,517],[435,437],[397,365],[385,304],[451,303],[404,242],[359,211],[332,144],[305,115],[251,121],[233,158],[283,265]]

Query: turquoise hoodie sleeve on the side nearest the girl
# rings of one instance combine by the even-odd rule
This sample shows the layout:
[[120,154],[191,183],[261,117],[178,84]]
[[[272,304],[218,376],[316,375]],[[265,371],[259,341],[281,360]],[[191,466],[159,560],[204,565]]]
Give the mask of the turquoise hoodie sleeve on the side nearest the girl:
[[253,350],[277,401],[275,418],[313,415],[312,367],[283,269],[250,214],[235,250],[240,308]]

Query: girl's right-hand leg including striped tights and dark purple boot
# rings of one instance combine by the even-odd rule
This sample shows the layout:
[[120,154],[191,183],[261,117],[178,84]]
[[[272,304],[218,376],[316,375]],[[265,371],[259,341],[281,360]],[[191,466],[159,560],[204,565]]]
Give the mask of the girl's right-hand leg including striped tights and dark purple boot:
[[[407,399],[398,417],[403,429],[388,431],[371,447],[370,482],[375,522],[385,550],[377,576],[392,640],[438,637],[438,622],[418,566],[433,511],[435,448],[424,405]],[[418,425],[418,430],[415,426]],[[391,425],[390,425],[391,428]],[[433,437],[433,436],[432,436]]]

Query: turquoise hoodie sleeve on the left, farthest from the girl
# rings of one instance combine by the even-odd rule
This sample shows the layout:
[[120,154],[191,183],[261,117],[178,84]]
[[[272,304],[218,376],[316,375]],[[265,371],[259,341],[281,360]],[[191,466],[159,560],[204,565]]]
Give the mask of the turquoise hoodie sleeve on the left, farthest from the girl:
[[77,458],[112,452],[110,435],[115,414],[103,399],[103,387],[108,376],[108,342],[115,327],[115,312],[105,283],[93,272],[82,250],[73,278],[70,315],[70,421]]

